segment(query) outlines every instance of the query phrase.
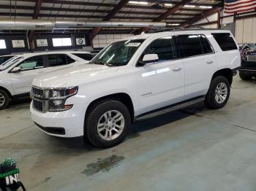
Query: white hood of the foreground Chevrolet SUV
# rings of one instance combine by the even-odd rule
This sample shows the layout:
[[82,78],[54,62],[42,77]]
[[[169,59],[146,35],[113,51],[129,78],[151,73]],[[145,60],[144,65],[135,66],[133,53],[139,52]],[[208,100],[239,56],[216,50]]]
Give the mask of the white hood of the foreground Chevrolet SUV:
[[32,85],[37,87],[72,87],[102,79],[118,70],[118,67],[97,64],[80,64],[65,69],[50,71],[36,77]]

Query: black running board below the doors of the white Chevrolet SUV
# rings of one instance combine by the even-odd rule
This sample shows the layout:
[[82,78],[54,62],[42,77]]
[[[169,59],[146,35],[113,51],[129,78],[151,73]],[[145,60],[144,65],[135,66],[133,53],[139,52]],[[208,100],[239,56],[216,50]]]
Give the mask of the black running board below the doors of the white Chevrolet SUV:
[[171,106],[168,106],[168,107],[165,107],[164,109],[157,109],[156,112],[150,112],[148,114],[142,114],[138,117],[135,117],[135,121],[140,121],[140,120],[146,120],[148,118],[152,118],[152,117],[156,117],[158,115],[161,115],[161,114],[166,114],[168,112],[173,112],[173,111],[176,111],[178,109],[183,109],[184,107],[187,107],[187,106],[190,106],[190,105],[193,105],[193,104],[197,104],[201,101],[204,101],[205,98],[204,97],[200,97],[200,98],[197,98],[197,99],[193,99],[193,100],[190,100],[190,101],[186,101],[186,102],[182,102],[181,104],[178,104],[178,105],[171,105]]

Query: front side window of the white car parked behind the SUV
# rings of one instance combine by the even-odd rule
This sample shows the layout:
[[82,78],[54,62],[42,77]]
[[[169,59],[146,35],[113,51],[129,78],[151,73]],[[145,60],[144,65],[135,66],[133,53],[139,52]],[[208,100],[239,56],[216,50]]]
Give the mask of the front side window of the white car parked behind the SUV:
[[21,70],[26,70],[26,69],[35,69],[37,67],[42,67],[42,66],[43,66],[42,55],[37,55],[21,62],[18,67],[20,67]]

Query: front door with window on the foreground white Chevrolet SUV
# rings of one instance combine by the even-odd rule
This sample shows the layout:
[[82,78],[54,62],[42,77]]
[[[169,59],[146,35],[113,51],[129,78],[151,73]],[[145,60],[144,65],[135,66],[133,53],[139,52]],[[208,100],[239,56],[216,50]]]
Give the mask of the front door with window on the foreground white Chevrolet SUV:
[[184,63],[178,59],[173,37],[154,40],[146,54],[157,54],[159,61],[135,67],[140,113],[184,101]]

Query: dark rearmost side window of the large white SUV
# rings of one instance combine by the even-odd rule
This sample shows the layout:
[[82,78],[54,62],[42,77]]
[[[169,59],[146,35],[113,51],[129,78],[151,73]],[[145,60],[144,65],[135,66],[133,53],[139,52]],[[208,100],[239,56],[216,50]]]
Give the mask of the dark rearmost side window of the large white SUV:
[[214,39],[219,44],[222,51],[237,50],[236,42],[229,33],[213,33]]

